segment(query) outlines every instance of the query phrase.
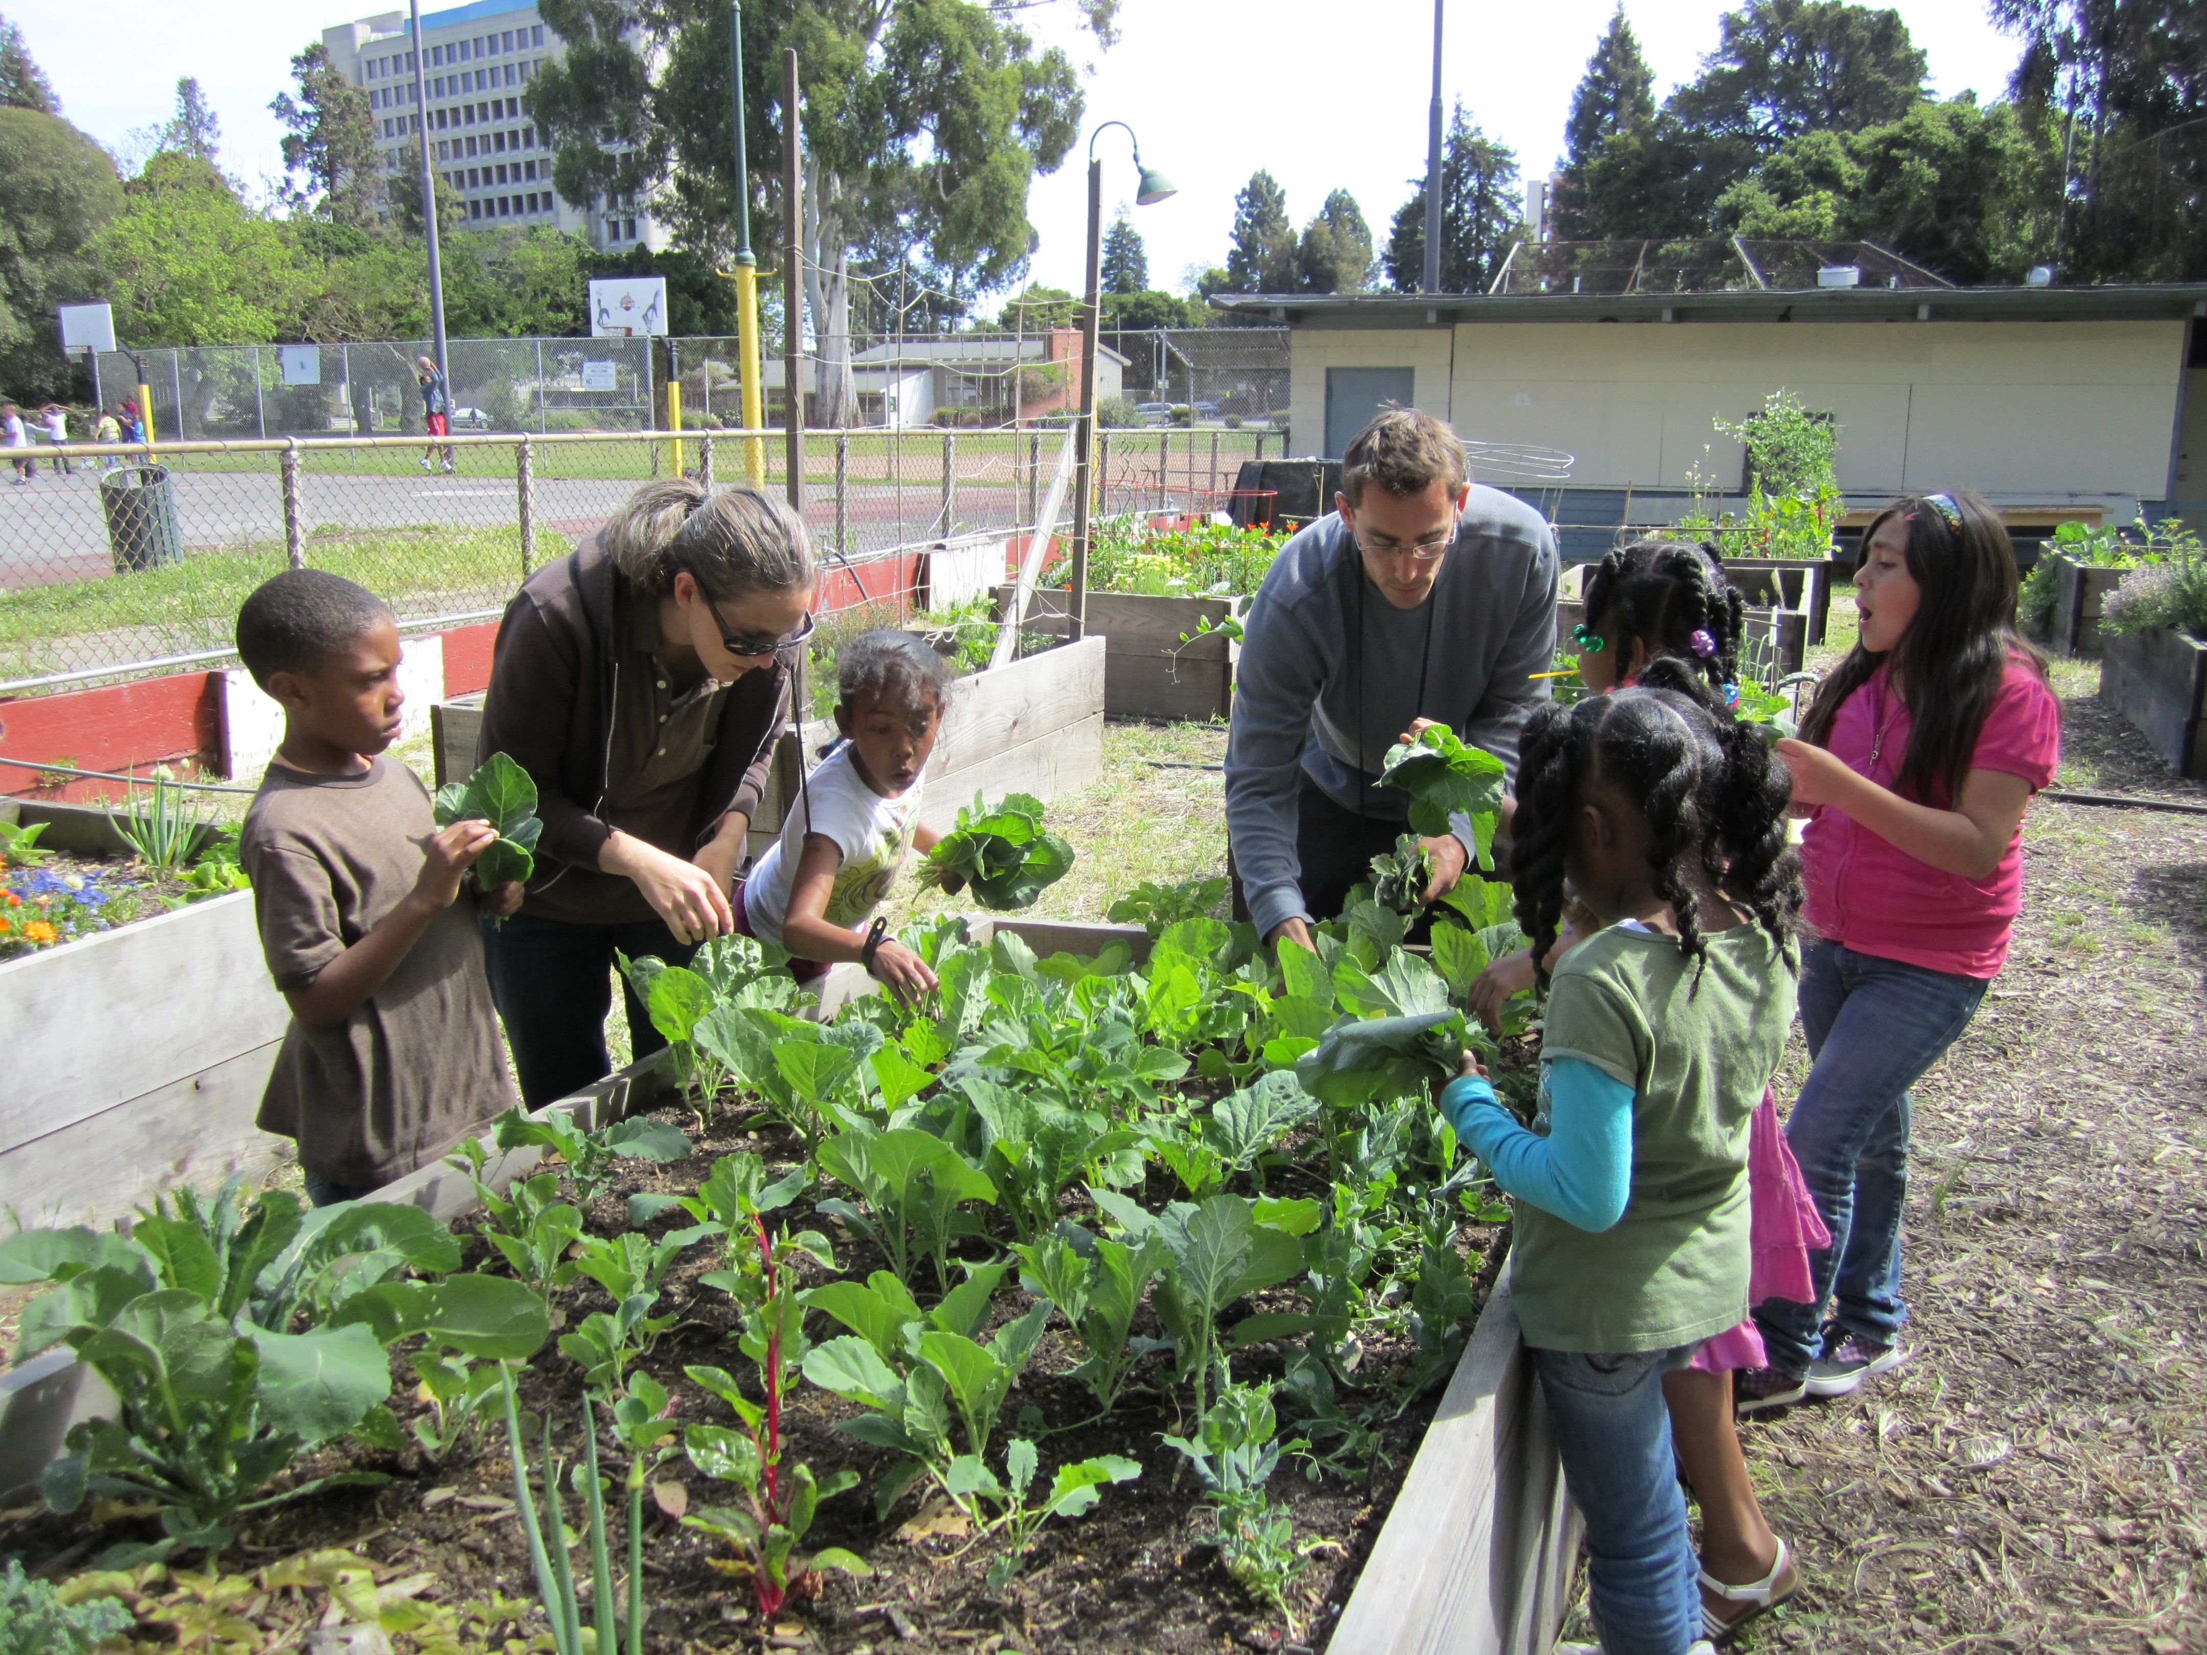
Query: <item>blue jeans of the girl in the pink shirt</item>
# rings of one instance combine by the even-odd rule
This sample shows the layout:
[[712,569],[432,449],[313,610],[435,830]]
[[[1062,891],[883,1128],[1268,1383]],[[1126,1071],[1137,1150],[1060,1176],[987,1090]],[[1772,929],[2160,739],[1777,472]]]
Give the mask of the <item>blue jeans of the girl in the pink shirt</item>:
[[1785,1119],[1785,1143],[1832,1245],[1808,1256],[1814,1304],[1755,1306],[1770,1366],[1801,1373],[1823,1355],[1823,1304],[1872,1344],[1907,1322],[1900,1218],[1909,1198],[1909,1088],[1960,1039],[1989,980],[1880,960],[1838,942],[1801,955],[1801,1031],[1814,1059]]

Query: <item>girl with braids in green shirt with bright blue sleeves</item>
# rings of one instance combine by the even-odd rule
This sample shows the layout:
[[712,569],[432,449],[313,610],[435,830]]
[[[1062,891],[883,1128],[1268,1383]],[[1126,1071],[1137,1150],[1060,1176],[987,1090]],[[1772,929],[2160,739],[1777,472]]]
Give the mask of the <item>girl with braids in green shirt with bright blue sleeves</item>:
[[[1671,669],[1664,671],[1668,675]],[[1554,964],[1545,1134],[1465,1055],[1457,1139],[1516,1198],[1512,1293],[1587,1516],[1609,1655],[1706,1648],[1662,1377],[1748,1309],[1748,1141],[1794,1008],[1788,783],[1704,695],[1536,708],[1518,772],[1518,922],[1536,973],[1565,880],[1600,931]]]

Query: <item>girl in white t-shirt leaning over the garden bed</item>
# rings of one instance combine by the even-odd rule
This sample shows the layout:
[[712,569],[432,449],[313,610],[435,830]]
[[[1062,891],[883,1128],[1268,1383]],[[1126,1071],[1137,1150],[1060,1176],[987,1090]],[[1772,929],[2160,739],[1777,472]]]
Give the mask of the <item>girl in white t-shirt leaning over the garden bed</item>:
[[923,828],[920,786],[942,733],[951,669],[925,638],[870,631],[836,664],[836,741],[790,801],[781,839],[735,891],[735,929],[790,951],[799,982],[859,960],[898,1000],[936,989],[936,973],[872,918]]

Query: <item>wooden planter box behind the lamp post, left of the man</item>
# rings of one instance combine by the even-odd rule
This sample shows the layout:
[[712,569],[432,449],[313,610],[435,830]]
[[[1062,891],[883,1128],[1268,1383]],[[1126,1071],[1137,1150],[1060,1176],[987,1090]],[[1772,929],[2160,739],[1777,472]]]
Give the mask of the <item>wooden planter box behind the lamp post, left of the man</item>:
[[[1024,631],[1066,638],[1073,629],[1068,591],[1033,591]],[[1223,719],[1234,713],[1234,669],[1240,644],[1225,636],[1192,638],[1238,618],[1247,598],[1148,598],[1090,591],[1088,636],[1104,638],[1104,711],[1115,719]],[[995,589],[995,618],[1011,609],[1011,587]]]

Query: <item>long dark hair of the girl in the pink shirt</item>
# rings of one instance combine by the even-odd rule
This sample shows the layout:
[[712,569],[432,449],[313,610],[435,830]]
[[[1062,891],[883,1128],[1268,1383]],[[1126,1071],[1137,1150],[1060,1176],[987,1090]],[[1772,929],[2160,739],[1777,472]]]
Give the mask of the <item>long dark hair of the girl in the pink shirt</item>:
[[[1922,589],[1916,618],[1891,649],[1894,684],[1909,706],[1898,792],[1951,803],[1962,797],[2008,658],[2022,655],[2039,677],[2046,660],[2015,631],[2015,547],[1991,505],[1975,494],[1909,494],[1863,534],[1865,558],[1896,516],[1907,523],[1909,576]],[[1838,708],[1885,660],[1856,644],[1819,686],[1801,739],[1832,746]]]

